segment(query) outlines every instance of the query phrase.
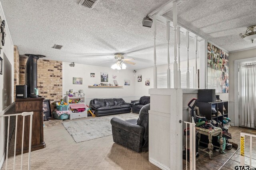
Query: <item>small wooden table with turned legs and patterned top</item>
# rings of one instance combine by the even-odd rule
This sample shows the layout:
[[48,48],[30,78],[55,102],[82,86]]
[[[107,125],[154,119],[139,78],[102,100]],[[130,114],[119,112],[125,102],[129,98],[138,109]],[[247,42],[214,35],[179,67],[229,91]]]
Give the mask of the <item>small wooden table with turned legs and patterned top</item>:
[[220,136],[218,143],[220,144],[220,153],[223,153],[223,142],[224,141],[222,139],[222,129],[220,127],[215,127],[214,129],[204,129],[201,127],[196,127],[196,130],[198,131],[198,137],[199,137],[198,146],[200,144],[201,134],[208,136],[208,139],[209,139],[208,148],[206,148],[206,149],[209,149],[209,152],[207,152],[206,149],[198,148],[199,150],[208,153],[210,159],[212,159],[212,150],[214,147],[212,145],[212,137]]

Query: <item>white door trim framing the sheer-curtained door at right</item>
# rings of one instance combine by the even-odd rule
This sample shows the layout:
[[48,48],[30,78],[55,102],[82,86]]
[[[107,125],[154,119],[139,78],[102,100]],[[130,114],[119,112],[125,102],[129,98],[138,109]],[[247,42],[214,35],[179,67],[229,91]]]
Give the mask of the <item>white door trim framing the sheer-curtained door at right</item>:
[[234,61],[234,98],[235,98],[235,100],[234,100],[234,118],[235,118],[234,123],[235,124],[234,125],[235,126],[239,126],[238,65],[239,65],[239,63],[245,63],[245,62],[250,62],[250,61],[256,61],[256,57],[240,59],[240,60]]

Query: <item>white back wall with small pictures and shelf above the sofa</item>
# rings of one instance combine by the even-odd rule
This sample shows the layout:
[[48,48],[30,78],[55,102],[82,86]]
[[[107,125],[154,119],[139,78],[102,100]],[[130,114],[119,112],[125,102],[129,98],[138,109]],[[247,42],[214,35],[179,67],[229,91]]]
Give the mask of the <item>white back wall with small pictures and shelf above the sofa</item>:
[[[69,89],[78,92],[79,89],[84,90],[86,96],[86,104],[89,105],[90,100],[94,98],[123,98],[126,102],[135,100],[134,97],[134,73],[133,70],[113,70],[110,67],[91,66],[85,64],[75,64],[74,67],[69,66],[70,63],[63,62],[62,73],[62,92],[63,97]],[[114,84],[113,80],[117,80],[122,88],[88,88],[93,84],[100,84],[100,72],[108,72],[108,82]],[[95,77],[91,78],[90,73],[95,73]],[[116,79],[112,78],[115,74]],[[83,78],[83,84],[73,84],[73,77]],[[130,80],[130,86],[124,86],[124,80]]]

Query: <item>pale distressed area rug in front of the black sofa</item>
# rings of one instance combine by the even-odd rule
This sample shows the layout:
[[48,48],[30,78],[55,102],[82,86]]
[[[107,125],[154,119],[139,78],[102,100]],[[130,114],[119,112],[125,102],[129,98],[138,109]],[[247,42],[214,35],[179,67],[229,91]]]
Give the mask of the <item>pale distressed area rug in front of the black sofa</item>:
[[62,122],[68,133],[76,143],[97,139],[112,135],[110,120],[117,117],[122,120],[138,119],[139,115],[126,113],[119,115],[110,115],[103,117],[94,117],[91,119],[74,120]]

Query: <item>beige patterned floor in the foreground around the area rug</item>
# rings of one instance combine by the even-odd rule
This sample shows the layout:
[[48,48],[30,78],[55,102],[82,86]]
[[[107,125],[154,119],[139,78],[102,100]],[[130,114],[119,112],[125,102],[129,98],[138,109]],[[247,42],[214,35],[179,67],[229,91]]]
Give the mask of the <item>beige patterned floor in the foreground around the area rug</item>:
[[[148,161],[148,152],[137,153],[117,145],[112,135],[76,143],[58,124],[44,129],[44,141],[45,149],[31,152],[32,170],[159,170]],[[27,153],[24,160],[23,169],[27,169]],[[8,162],[8,169],[12,169],[13,157]],[[20,169],[20,155],[16,157],[16,169]]]

